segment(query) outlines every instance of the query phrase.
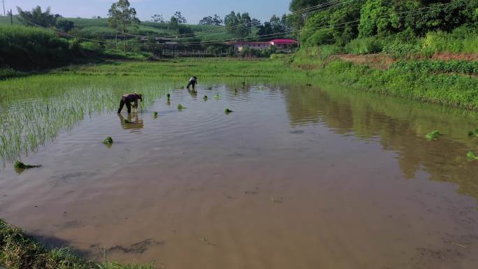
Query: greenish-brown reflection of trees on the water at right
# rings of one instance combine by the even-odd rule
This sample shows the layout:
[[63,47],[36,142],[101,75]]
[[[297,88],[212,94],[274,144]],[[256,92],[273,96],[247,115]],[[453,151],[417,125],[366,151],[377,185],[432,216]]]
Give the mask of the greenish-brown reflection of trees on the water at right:
[[[406,178],[423,170],[431,180],[454,182],[459,192],[478,200],[477,162],[465,156],[478,149],[478,140],[467,136],[476,128],[475,112],[338,89],[292,87],[284,94],[292,126],[323,123],[335,133],[379,140],[384,150],[397,152]],[[444,138],[426,140],[435,129]]]

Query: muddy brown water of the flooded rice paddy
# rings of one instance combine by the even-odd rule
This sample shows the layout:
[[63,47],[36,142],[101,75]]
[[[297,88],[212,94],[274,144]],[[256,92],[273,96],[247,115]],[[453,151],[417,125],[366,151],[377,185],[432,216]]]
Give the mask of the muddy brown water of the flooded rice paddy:
[[171,99],[85,119],[24,157],[41,168],[7,163],[0,217],[158,268],[478,268],[475,113],[288,85]]

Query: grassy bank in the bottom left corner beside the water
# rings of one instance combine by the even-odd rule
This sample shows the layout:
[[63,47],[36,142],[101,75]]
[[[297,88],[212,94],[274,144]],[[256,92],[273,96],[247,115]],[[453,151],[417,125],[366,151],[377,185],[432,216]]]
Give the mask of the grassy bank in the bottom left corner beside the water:
[[154,269],[154,266],[94,263],[76,256],[71,249],[46,249],[20,228],[0,219],[0,266],[11,269]]

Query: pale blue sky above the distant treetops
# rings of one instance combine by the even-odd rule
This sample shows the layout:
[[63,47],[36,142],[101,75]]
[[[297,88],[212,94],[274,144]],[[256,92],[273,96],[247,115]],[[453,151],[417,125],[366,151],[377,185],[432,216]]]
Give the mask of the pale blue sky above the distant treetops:
[[[64,17],[106,17],[113,2],[114,0],[5,0],[5,8],[16,10],[15,6],[20,6],[31,10],[37,5],[42,8],[51,6],[53,13]],[[231,10],[240,13],[247,11],[251,17],[263,22],[273,14],[287,13],[290,0],[130,0],[130,3],[136,8],[140,20],[149,20],[154,14],[162,14],[165,19],[169,19],[175,11],[181,11],[188,23],[196,24],[205,16],[217,13],[224,17]]]

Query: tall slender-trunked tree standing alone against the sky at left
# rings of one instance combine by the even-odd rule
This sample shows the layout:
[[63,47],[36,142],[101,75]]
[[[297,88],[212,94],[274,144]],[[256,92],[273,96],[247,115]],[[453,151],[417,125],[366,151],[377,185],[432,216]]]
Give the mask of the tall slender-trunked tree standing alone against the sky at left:
[[[110,27],[121,29],[123,33],[126,33],[129,25],[140,24],[140,20],[136,17],[136,9],[130,7],[128,0],[118,0],[111,5],[108,11],[108,22]],[[126,51],[126,38],[124,38],[124,51]]]

